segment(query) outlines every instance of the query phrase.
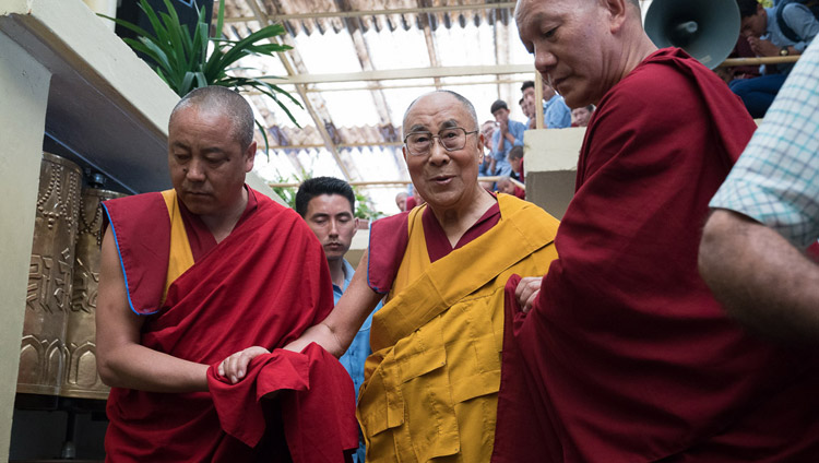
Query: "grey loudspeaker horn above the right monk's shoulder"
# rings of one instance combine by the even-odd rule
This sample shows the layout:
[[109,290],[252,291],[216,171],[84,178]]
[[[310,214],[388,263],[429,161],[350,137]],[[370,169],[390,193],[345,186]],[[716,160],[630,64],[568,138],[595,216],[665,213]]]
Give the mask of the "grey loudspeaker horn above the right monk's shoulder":
[[736,0],[654,0],[644,27],[657,47],[682,48],[714,69],[739,38],[739,7]]

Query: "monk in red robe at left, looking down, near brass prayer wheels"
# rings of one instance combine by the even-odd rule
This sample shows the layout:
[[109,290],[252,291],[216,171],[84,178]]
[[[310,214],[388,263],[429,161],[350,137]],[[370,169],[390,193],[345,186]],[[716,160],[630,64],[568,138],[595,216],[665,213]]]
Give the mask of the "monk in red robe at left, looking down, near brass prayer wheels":
[[[352,381],[316,346],[259,359],[253,375],[286,364],[270,367],[275,381],[233,387],[213,368],[248,346],[284,346],[333,307],[312,232],[245,185],[254,156],[248,103],[224,87],[195,90],[170,115],[174,189],[105,203],[96,335],[112,387],[107,461],[298,462],[307,451],[343,461],[356,447]],[[260,409],[257,395],[282,389],[293,392]]]

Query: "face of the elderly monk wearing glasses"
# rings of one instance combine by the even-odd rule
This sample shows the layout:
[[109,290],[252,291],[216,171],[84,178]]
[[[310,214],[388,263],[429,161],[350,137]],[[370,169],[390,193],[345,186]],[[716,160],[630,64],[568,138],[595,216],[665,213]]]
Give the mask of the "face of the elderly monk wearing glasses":
[[[442,129],[461,127],[477,130],[475,121],[454,96],[431,93],[423,96],[404,118],[405,134],[427,131],[438,134]],[[438,138],[426,155],[415,155],[404,146],[404,159],[415,188],[434,210],[464,205],[477,190],[478,166],[483,161],[484,136],[466,135],[463,149],[446,151]]]

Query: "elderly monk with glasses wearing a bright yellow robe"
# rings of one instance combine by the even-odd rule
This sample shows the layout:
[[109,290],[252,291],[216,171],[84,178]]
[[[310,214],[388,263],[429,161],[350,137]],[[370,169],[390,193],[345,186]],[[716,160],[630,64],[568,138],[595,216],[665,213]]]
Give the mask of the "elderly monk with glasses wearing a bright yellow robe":
[[[489,461],[503,342],[503,286],[557,258],[558,221],[478,185],[484,136],[472,104],[439,91],[404,116],[404,159],[427,203],[372,225],[368,253],[334,310],[288,348],[342,355],[370,330],[358,420],[368,462]],[[241,378],[251,347],[226,361]]]

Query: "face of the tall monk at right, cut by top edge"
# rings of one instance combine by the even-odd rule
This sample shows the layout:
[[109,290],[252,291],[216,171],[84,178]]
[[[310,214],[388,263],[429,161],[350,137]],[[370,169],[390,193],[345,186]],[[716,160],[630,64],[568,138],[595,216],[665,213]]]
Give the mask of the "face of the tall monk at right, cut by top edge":
[[[569,107],[597,102],[616,82],[610,57],[610,15],[603,2],[521,0],[515,20],[535,69]],[[546,99],[546,95],[544,95]]]

